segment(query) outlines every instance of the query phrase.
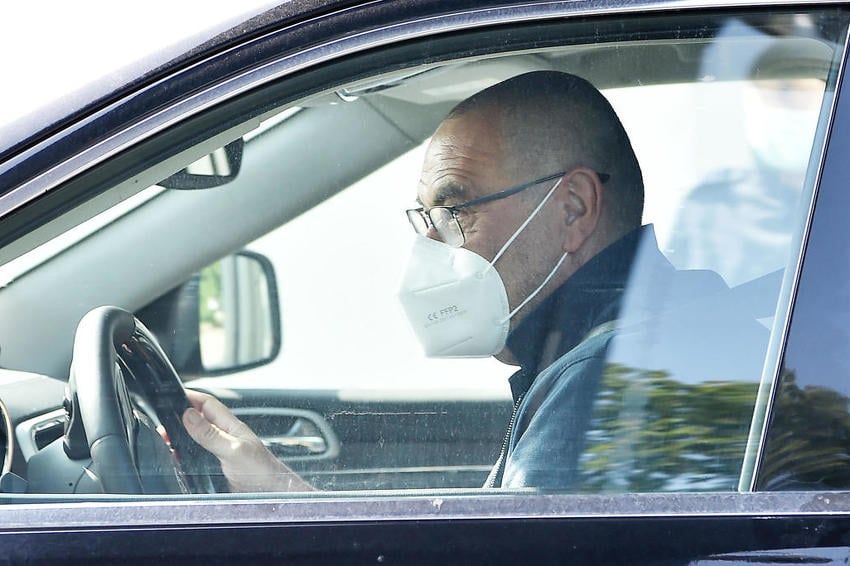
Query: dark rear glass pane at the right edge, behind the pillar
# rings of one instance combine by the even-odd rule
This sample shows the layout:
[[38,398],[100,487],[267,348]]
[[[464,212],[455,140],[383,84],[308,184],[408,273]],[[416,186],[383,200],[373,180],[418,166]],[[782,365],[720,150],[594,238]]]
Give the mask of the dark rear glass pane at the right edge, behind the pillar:
[[[847,87],[847,76],[842,79]],[[846,92],[846,91],[845,91]],[[833,491],[850,486],[850,381],[847,320],[850,277],[847,139],[839,135],[847,108],[836,108],[812,231],[780,366],[755,487],[759,490]]]

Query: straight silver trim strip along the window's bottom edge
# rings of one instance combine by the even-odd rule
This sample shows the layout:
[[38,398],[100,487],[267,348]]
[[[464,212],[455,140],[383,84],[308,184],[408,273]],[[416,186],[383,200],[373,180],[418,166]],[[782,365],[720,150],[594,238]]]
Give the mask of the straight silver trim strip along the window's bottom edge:
[[[8,503],[0,508],[3,531],[37,526],[121,529],[132,527],[189,527],[193,525],[258,526],[306,525],[333,522],[386,523],[492,519],[649,519],[670,517],[834,517],[850,515],[850,492],[783,493],[667,493],[617,495],[540,495],[514,491],[487,496],[421,491],[391,495],[340,493],[316,499],[307,494],[282,494],[246,499],[228,495],[209,499],[161,496],[87,496],[71,503]],[[212,500],[215,497],[215,500]],[[14,499],[13,499],[14,498]],[[45,496],[35,497],[38,501]],[[26,500],[8,496],[6,501]]]

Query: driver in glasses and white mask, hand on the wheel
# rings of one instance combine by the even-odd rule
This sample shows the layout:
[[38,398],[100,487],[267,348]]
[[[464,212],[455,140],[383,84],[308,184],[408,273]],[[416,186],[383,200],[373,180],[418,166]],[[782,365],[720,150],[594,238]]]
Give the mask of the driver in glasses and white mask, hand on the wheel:
[[[675,276],[641,227],[643,180],[620,120],[579,77],[508,79],[440,124],[418,201],[408,217],[426,237],[400,297],[426,354],[493,355],[521,368],[486,485],[574,486],[634,259],[649,266],[644,290]],[[630,312],[653,310],[641,297]],[[310,489],[221,403],[190,399],[186,428],[233,490]]]

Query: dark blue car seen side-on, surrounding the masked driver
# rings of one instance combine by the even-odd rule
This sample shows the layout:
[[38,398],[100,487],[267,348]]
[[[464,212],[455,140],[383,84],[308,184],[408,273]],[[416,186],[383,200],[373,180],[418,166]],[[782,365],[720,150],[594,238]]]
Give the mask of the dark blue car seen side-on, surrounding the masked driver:
[[[4,556],[850,556],[850,4],[308,0],[234,18],[0,138]],[[660,249],[729,293],[649,313],[659,334],[612,352],[580,485],[482,489],[515,368],[421,357],[395,300],[404,210],[446,113],[541,69],[608,97]],[[768,130],[777,99],[798,129]],[[175,440],[182,407],[157,404],[179,382],[134,388],[127,319],[103,305],[155,336],[131,357],[161,348],[323,491],[228,494],[210,472],[216,489],[186,493],[158,437],[130,442],[141,489],[107,483],[81,423],[123,411],[131,439],[164,423]]]

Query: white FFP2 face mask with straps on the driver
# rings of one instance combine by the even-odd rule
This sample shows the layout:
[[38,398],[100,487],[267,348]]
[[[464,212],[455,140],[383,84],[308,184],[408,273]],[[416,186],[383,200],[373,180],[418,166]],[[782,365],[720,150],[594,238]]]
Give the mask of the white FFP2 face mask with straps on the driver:
[[561,181],[508,239],[492,262],[465,248],[417,236],[402,279],[399,300],[425,355],[467,358],[498,354],[505,347],[510,319],[533,299],[561,267],[567,253],[513,311],[493,267],[516,237],[543,208]]

